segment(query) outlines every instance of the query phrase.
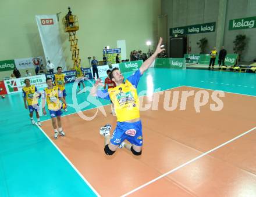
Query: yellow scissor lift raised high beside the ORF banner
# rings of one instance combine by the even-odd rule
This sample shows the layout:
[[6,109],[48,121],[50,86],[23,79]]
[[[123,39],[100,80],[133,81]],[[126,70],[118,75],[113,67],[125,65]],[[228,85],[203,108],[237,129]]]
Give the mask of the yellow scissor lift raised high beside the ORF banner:
[[72,52],[73,67],[77,61],[80,64],[79,47],[77,45],[76,31],[79,30],[79,24],[76,15],[65,16],[62,19],[63,29],[69,33],[70,51]]

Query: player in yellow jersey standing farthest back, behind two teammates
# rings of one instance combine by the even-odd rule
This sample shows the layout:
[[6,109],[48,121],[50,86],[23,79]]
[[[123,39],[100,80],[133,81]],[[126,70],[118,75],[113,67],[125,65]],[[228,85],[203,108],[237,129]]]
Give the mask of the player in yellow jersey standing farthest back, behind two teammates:
[[[57,67],[57,73],[54,74],[54,78],[52,79],[52,81],[54,81],[54,85],[56,87],[59,87],[59,90],[62,91],[62,97],[64,98],[64,100],[66,100],[66,89],[65,89],[65,85],[67,83],[67,78],[65,74],[62,74],[62,67]],[[67,108],[64,108],[64,111],[67,112]]]

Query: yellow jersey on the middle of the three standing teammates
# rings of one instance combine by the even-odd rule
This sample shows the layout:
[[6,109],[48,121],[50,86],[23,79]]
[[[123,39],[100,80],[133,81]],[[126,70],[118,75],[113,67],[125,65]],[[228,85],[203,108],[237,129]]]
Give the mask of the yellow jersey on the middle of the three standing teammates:
[[48,105],[48,110],[58,111],[61,109],[61,102],[59,97],[62,97],[62,91],[57,86],[53,86],[52,89],[46,87],[44,89],[44,99]]

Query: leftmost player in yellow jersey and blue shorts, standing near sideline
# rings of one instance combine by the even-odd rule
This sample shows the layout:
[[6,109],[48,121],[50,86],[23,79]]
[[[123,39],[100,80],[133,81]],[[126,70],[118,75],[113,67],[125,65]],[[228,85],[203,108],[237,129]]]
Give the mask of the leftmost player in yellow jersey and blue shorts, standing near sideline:
[[22,97],[24,100],[25,108],[29,109],[31,123],[35,125],[35,121],[33,120],[33,112],[35,111],[35,115],[37,116],[37,125],[42,126],[40,122],[40,116],[38,114],[38,98],[41,97],[41,93],[37,92],[37,87],[30,85],[29,79],[25,79],[24,83],[26,86],[22,88]]

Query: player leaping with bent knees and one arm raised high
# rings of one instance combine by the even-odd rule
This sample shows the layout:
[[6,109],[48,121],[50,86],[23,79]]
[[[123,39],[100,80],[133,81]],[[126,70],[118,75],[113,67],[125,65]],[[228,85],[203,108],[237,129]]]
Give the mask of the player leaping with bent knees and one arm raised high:
[[[163,50],[161,46],[162,38],[160,38],[155,53],[152,54],[140,67],[124,80],[123,75],[118,68],[111,71],[110,77],[115,82],[116,87],[108,90],[97,90],[98,86],[104,86],[102,82],[97,81],[91,89],[91,95],[105,99],[111,99],[114,106],[118,123],[112,137],[110,136],[110,125],[102,127],[99,133],[105,137],[105,154],[113,155],[116,149],[125,147],[134,155],[141,155],[143,145],[142,126],[140,121],[139,100],[137,95],[137,85],[141,75],[148,70],[152,62],[157,58],[158,54]],[[127,140],[130,142],[124,143]]]

